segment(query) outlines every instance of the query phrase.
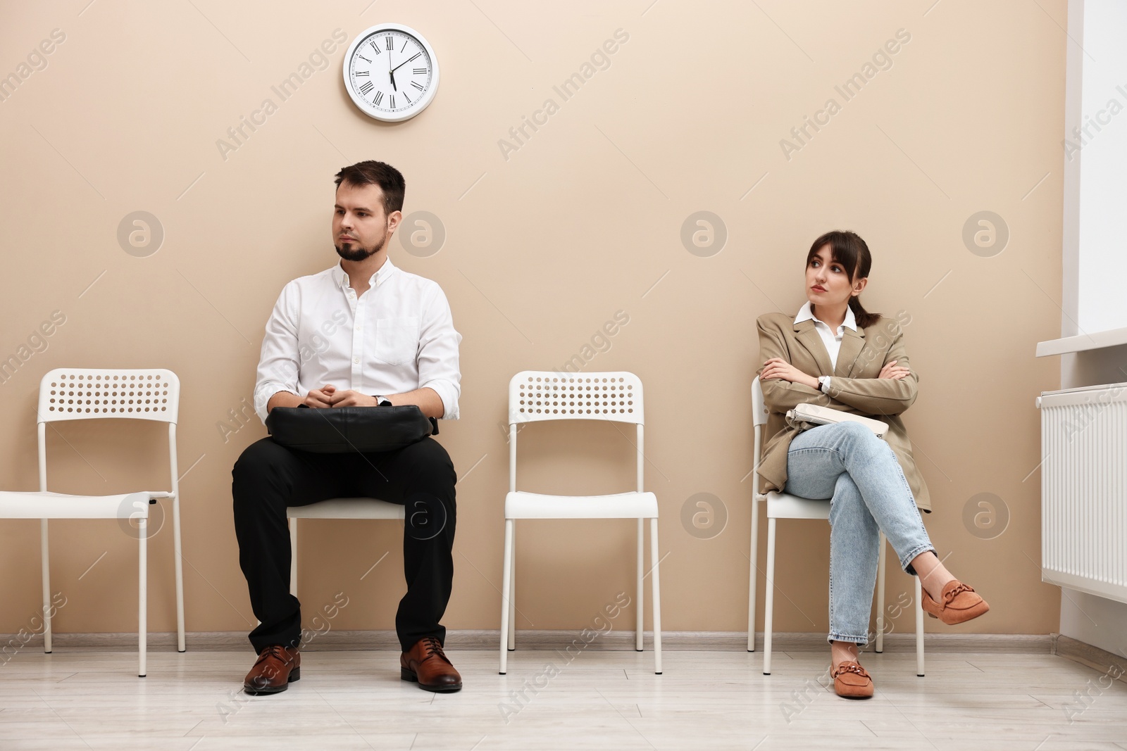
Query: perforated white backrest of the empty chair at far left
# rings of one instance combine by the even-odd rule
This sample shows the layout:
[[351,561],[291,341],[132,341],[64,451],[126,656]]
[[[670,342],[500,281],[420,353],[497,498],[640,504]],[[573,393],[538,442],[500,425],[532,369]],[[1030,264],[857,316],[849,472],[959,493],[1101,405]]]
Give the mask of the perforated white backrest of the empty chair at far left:
[[55,368],[39,382],[39,423],[130,418],[177,421],[180,379],[163,368]]

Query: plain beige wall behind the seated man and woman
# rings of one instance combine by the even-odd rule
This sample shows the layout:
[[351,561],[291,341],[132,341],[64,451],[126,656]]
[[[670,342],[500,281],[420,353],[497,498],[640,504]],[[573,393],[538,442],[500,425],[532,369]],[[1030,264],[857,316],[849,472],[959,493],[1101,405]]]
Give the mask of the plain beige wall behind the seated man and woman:
[[[18,356],[54,311],[65,315],[46,349],[25,350],[30,357],[0,386],[0,485],[36,486],[34,404],[47,369],[178,373],[179,461],[193,467],[181,484],[189,631],[254,624],[230,468],[265,430],[257,420],[240,427],[229,410],[250,399],[282,285],[334,262],[332,175],[362,159],[401,169],[406,212],[432,212],[447,233],[428,258],[399,240],[392,253],[443,286],[464,336],[462,419],[441,436],[462,475],[451,628],[498,625],[507,489],[498,424],[509,377],[560,366],[616,311],[629,323],[585,369],[629,369],[646,385],[665,628],[746,627],[755,318],[799,307],[804,253],[829,229],[855,230],[872,249],[868,307],[911,315],[921,391],[906,422],[934,499],[928,528],[952,571],[994,608],[960,628],[1056,628],[1057,590],[1039,582],[1037,564],[1040,475],[1030,472],[1039,459],[1033,397],[1059,384],[1057,363],[1032,354],[1058,336],[1061,320],[1063,0],[1041,9],[955,0],[551,9],[361,0],[291,2],[284,12],[213,0],[86,5],[6,3],[0,25],[0,74],[18,75],[53,29],[65,35],[47,66],[0,102],[0,356]],[[335,29],[350,41],[383,20],[414,26],[436,50],[442,82],[419,117],[389,126],[358,113],[340,80],[343,46],[289,100],[272,92]],[[616,29],[629,39],[610,68],[562,101],[551,87],[582,73]],[[844,101],[835,84],[863,72],[898,29],[911,41],[891,68]],[[559,110],[503,154],[498,141],[549,97]],[[224,159],[216,140],[265,98],[277,111]],[[784,157],[780,140],[828,98],[841,110]],[[151,212],[165,231],[149,257],[127,254],[116,238],[134,211]],[[681,241],[698,211],[727,227],[711,257]],[[979,211],[1009,226],[1001,254],[964,244],[964,223]],[[224,436],[224,421],[238,430]],[[62,428],[50,440],[52,489],[162,486],[160,436],[145,424]],[[521,441],[530,489],[630,485],[631,448],[612,426],[538,424]],[[575,472],[553,456],[564,452],[593,468]],[[681,520],[686,499],[702,492],[728,517],[710,539]],[[1009,511],[992,539],[964,522],[978,493]],[[400,530],[305,529],[307,618],[345,591],[350,605],[336,625],[391,628]],[[589,625],[630,589],[632,522],[526,522],[522,531],[521,627]],[[37,551],[35,521],[0,521],[0,632],[26,625],[38,607]],[[113,521],[55,522],[53,589],[68,598],[57,631],[133,629],[135,554]],[[827,525],[780,525],[779,631],[827,627]],[[171,571],[166,525],[151,549],[153,631],[175,628]],[[889,601],[911,591],[899,572],[889,582]],[[895,624],[909,627],[911,617]]]

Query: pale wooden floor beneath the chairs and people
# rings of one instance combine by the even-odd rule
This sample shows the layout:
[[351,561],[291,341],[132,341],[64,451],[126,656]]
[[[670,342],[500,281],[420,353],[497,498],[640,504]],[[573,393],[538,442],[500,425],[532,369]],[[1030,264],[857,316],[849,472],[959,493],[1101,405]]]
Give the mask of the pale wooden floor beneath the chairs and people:
[[[1048,654],[866,655],[877,696],[826,691],[826,654],[451,652],[465,688],[399,679],[394,652],[307,652],[302,679],[241,692],[245,652],[26,649],[0,665],[0,749],[1127,749],[1127,686]],[[526,685],[527,682],[527,685]],[[524,699],[514,691],[524,689]],[[1085,696],[1081,703],[1077,694]]]

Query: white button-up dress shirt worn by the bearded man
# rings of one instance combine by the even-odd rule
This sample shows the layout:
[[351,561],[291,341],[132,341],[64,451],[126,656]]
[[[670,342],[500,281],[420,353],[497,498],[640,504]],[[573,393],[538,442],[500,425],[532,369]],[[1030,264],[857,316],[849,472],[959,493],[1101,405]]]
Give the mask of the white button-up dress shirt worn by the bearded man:
[[442,399],[442,419],[458,419],[462,334],[442,287],[390,258],[369,285],[357,297],[337,263],[282,289],[258,360],[255,411],[263,422],[277,392],[304,397],[326,384],[369,396],[426,386]]

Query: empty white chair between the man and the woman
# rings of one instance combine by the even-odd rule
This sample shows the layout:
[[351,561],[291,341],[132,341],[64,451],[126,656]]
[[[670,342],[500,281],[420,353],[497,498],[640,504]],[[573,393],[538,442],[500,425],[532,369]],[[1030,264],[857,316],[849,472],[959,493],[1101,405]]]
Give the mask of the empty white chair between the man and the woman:
[[[543,420],[607,420],[632,422],[638,428],[638,490],[613,495],[543,495],[516,490],[516,433],[526,422]],[[642,390],[632,373],[560,374],[523,370],[508,383],[508,494],[505,495],[505,560],[502,574],[500,674],[506,672],[507,650],[516,649],[516,520],[517,519],[637,519],[638,597],[635,649],[642,651],[642,587],[645,526],[649,519],[650,584],[654,589],[654,672],[662,674],[662,600],[658,582],[657,497],[642,481]]]

